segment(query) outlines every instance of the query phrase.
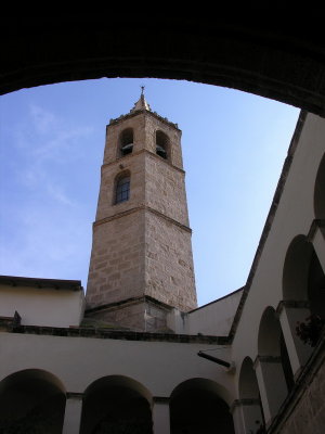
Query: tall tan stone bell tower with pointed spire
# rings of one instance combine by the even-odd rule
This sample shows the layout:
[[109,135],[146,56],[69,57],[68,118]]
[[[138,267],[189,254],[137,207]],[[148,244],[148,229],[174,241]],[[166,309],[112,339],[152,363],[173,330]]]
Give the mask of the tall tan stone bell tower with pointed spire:
[[87,317],[165,331],[173,308],[197,306],[184,176],[181,130],[142,91],[106,127]]

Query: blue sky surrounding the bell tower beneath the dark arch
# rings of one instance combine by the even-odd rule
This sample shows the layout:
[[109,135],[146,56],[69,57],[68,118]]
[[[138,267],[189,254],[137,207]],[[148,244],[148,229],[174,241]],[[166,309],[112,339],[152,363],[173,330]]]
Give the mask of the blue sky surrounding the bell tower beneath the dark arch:
[[105,126],[140,86],[183,131],[199,305],[245,284],[299,110],[233,89],[157,79],[42,86],[0,98],[0,273],[86,289]]

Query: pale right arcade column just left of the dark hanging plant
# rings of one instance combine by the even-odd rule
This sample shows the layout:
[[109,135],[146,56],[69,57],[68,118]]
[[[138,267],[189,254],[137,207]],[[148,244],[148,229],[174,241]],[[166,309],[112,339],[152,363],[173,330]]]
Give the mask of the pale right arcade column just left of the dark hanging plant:
[[309,302],[282,301],[276,312],[278,314],[292,373],[297,378],[311,355],[311,347],[303,344],[296,332],[297,322],[304,321],[310,316]]

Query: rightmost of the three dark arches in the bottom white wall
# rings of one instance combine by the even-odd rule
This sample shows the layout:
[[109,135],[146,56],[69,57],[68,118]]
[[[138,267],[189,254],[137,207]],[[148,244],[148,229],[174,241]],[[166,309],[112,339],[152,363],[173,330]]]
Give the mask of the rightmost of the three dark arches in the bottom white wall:
[[208,379],[195,378],[179,384],[170,395],[171,434],[234,434],[226,395],[223,386]]

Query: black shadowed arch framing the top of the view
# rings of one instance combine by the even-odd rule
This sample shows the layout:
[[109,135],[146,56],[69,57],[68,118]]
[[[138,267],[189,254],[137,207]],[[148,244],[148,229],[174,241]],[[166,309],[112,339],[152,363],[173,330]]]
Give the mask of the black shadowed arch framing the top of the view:
[[[308,22],[313,25],[307,31]],[[132,9],[121,14],[118,8],[109,15],[15,13],[3,16],[0,31],[0,94],[102,77],[172,78],[325,115],[325,35],[316,9],[266,2],[222,7],[218,14],[199,8],[166,8],[158,15]]]

